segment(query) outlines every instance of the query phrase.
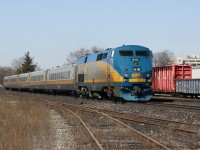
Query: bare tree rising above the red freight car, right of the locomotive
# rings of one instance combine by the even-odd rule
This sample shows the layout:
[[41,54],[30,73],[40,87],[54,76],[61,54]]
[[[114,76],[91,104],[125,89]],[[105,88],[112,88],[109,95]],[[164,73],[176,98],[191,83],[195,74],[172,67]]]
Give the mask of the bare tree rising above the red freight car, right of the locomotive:
[[155,52],[153,55],[153,66],[165,66],[174,63],[174,53],[170,50]]

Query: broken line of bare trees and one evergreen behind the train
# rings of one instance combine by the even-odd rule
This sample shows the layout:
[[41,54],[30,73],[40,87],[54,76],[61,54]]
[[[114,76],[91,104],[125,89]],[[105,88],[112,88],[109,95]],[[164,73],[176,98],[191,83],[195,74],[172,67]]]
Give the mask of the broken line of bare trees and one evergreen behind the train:
[[[77,49],[68,54],[64,66],[76,64],[76,60],[80,56],[103,50],[104,50],[103,48],[98,48],[96,46],[92,47],[91,49],[86,49],[86,48]],[[28,51],[24,54],[23,57],[19,59],[14,59],[12,62],[12,67],[0,66],[0,84],[2,84],[3,78],[5,76],[40,70],[38,64],[34,63],[33,59],[34,57],[31,57]],[[172,64],[173,61],[174,61],[174,53],[170,50],[164,50],[162,52],[153,53],[153,66],[164,66]]]

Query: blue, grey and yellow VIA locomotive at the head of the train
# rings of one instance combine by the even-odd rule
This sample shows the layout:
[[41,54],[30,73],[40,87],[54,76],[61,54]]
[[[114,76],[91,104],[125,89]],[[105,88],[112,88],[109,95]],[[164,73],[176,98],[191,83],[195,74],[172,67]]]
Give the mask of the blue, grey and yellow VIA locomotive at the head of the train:
[[78,58],[77,93],[148,101],[152,97],[152,53],[142,46],[126,45]]

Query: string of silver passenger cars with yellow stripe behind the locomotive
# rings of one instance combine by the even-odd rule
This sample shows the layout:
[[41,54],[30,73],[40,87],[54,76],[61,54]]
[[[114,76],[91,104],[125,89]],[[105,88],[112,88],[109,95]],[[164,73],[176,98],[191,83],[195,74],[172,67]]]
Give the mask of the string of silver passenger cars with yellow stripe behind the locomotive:
[[75,67],[65,66],[4,77],[3,85],[11,90],[75,91]]

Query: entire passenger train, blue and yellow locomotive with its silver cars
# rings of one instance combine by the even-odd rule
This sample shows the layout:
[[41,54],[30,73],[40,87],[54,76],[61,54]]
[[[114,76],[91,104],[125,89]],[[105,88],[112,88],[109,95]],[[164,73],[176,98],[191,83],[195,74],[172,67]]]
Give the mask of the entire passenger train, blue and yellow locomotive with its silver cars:
[[123,45],[87,54],[76,65],[4,77],[6,89],[67,92],[77,96],[148,101],[152,97],[152,52]]

